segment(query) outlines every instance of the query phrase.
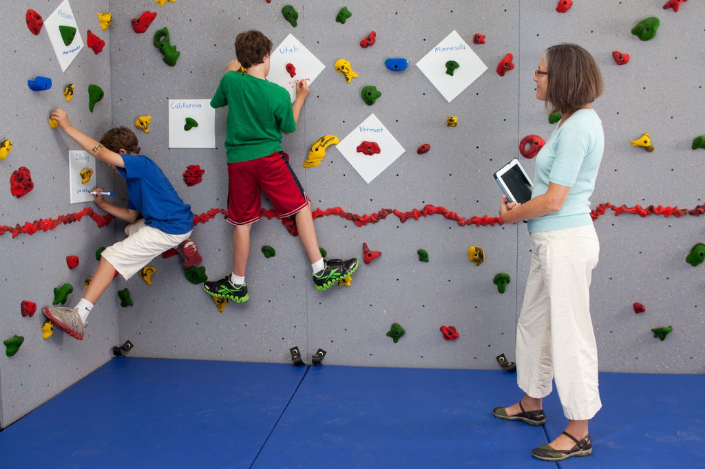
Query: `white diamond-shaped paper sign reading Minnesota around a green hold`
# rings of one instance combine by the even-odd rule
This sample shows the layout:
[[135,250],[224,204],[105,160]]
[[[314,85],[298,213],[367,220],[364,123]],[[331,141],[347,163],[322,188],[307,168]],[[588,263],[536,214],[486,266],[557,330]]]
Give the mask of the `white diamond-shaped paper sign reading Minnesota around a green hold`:
[[[448,61],[455,61],[460,65],[453,70],[453,75],[446,72]],[[487,65],[455,31],[431,49],[416,66],[449,103],[487,70]]]

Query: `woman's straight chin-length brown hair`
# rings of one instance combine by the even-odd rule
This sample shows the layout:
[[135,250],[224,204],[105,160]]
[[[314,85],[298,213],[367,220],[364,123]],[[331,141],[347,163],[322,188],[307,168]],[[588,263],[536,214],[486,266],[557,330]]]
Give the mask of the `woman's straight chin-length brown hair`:
[[595,59],[576,44],[558,44],[544,52],[548,87],[546,108],[573,113],[602,94],[603,81]]

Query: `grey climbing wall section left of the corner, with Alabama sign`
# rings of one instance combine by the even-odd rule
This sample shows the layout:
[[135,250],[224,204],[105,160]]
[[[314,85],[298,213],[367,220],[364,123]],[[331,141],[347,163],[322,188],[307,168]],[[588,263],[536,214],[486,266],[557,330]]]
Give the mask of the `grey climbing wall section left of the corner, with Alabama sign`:
[[[97,267],[95,251],[116,238],[114,223],[98,227],[105,213],[99,213],[97,208],[93,212],[92,203],[69,204],[68,152],[80,148],[60,130],[49,127],[49,113],[56,107],[66,109],[71,123],[90,135],[100,135],[111,125],[109,46],[99,54],[85,46],[88,30],[109,44],[109,34],[101,29],[97,18],[98,12],[108,11],[108,2],[71,1],[78,23],[77,36],[81,36],[84,50],[63,73],[47,25],[35,36],[25,22],[27,9],[47,20],[60,4],[52,0],[4,5],[0,140],[11,140],[13,148],[0,161],[0,340],[18,336],[24,341],[14,356],[6,356],[5,346],[0,354],[0,427],[6,427],[109,361],[110,348],[118,341],[114,287],[99,301],[97,314],[90,320],[94,339],[79,342],[58,328],[43,338],[46,318],[42,308],[51,306],[57,298],[54,289],[66,292],[63,286],[71,286],[73,292],[68,294],[66,304],[73,307],[82,295],[85,280]],[[78,44],[78,38],[74,41],[71,49]],[[51,88],[32,91],[27,81],[41,81],[37,77],[49,78]],[[73,98],[66,101],[63,92],[71,83]],[[89,85],[104,89],[104,99],[94,105],[92,113]],[[11,191],[11,176],[23,167],[30,171],[33,188],[18,192],[23,194],[18,197]],[[111,170],[102,164],[95,167],[87,183],[91,189],[96,185],[112,189],[113,184]],[[69,268],[67,256],[77,256],[78,266]],[[23,315],[25,301],[35,305],[32,315],[31,310]]]

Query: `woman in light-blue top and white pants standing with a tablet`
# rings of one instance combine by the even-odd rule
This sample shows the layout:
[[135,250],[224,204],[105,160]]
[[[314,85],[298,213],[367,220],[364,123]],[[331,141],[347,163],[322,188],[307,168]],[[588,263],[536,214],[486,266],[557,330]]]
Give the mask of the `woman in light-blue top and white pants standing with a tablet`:
[[575,44],[546,49],[534,82],[537,99],[561,118],[537,155],[532,199],[515,204],[504,197],[499,210],[505,223],[528,220],[532,262],[516,339],[517,384],[525,395],[492,413],[543,425],[541,399],[555,379],[568,425],[532,455],[563,461],[592,453],[588,423],[602,405],[589,308],[599,241],[589,198],[604,148],[602,123],[590,104],[603,82],[594,58]]

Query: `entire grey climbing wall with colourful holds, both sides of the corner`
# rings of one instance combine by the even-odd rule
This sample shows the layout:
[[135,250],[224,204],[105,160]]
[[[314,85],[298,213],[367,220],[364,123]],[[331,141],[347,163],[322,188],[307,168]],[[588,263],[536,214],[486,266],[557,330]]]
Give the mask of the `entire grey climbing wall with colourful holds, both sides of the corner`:
[[[663,1],[575,0],[559,13],[555,1],[407,0],[390,6],[363,0],[347,5],[352,15],[342,23],[336,15],[344,4],[305,0],[291,4],[298,13],[294,27],[282,14],[286,3],[274,0],[227,5],[74,0],[84,40],[85,30],[92,29],[106,47],[100,54],[81,51],[62,74],[47,37],[41,36],[46,33],[35,37],[24,22],[27,8],[48,15],[60,3],[13,4],[12,30],[4,33],[10,46],[0,51],[4,63],[16,64],[4,75],[12,78],[6,82],[13,82],[15,91],[8,93],[0,120],[0,139],[11,138],[14,149],[0,167],[7,181],[25,165],[35,181],[35,189],[20,199],[7,187],[0,192],[0,225],[11,227],[0,236],[8,259],[3,287],[12,292],[0,330],[3,339],[25,336],[15,356],[0,360],[2,426],[106,361],[111,347],[125,340],[135,344],[130,356],[157,358],[285,363],[296,346],[306,363],[319,349],[326,351],[325,364],[341,365],[483,369],[497,368],[499,354],[513,360],[529,243],[524,224],[498,223],[501,192],[492,173],[516,157],[532,175],[534,163],[520,156],[519,142],[527,135],[548,139],[553,129],[543,103],[535,99],[533,72],[541,52],[559,42],[591,51],[606,83],[594,104],[606,149],[592,197],[601,241],[591,290],[601,370],[703,372],[705,265],[685,261],[694,245],[705,242],[699,171],[705,150],[691,147],[705,134],[705,81],[698,66],[705,11],[698,4],[684,3],[675,11],[662,8]],[[101,11],[112,14],[105,32],[97,20]],[[130,23],[145,11],[157,16],[137,33]],[[632,35],[637,23],[654,16],[661,20],[656,37],[642,41]],[[180,52],[173,66],[154,46],[154,33],[164,27]],[[135,129],[143,153],[161,165],[198,215],[192,237],[204,272],[216,280],[231,270],[232,227],[222,215],[226,110],[216,110],[215,149],[170,148],[168,102],[210,99],[235,56],[235,35],[249,29],[268,35],[274,54],[281,56],[288,49],[279,45],[293,35],[325,65],[310,85],[297,132],[284,137],[283,148],[312,201],[321,247],[329,258],[360,258],[350,286],[317,292],[298,238],[286,223],[263,217],[252,228],[247,303],[228,304],[219,312],[202,285],[186,278],[178,256],[158,257],[151,263],[156,268],[152,286],[135,276],[117,280],[104,294],[83,342],[61,331],[43,340],[39,310],[51,302],[52,289],[72,283],[77,292],[69,302],[75,304],[82,280],[96,265],[94,251],[120,239],[124,226],[113,221],[99,228],[84,217],[56,230],[13,236],[13,228],[25,221],[92,208],[69,205],[68,195],[63,196],[64,158],[78,146],[49,129],[49,110],[66,106],[75,125],[92,135],[111,125]],[[374,44],[360,46],[373,30]],[[462,42],[436,49],[453,32]],[[484,44],[474,44],[478,34],[485,36]],[[450,100],[417,66],[427,54],[448,50],[458,51],[455,73],[460,77],[468,50],[487,68]],[[618,65],[613,51],[628,54],[630,61]],[[501,76],[496,70],[508,54],[514,66],[501,67]],[[357,74],[350,83],[336,72],[341,58]],[[385,65],[389,58],[408,66],[391,70]],[[24,80],[37,75],[51,75],[54,88],[27,89]],[[72,81],[81,92],[64,104],[61,89]],[[96,82],[106,97],[90,113],[86,89]],[[372,105],[362,100],[366,86],[381,92]],[[343,153],[349,151],[343,140],[363,132],[372,114],[403,153],[367,182],[350,163],[355,158]],[[151,118],[148,133],[134,127],[141,116]],[[457,118],[457,125],[449,127],[449,117]],[[630,143],[643,142],[644,133],[653,151]],[[326,135],[341,144],[328,146],[319,165],[304,168],[309,148]],[[376,132],[369,135],[374,140]],[[430,149],[418,154],[422,144]],[[202,182],[187,186],[183,173],[190,165],[204,173]],[[126,203],[119,178],[113,181],[100,164],[94,177],[111,185],[116,203]],[[269,215],[268,201],[264,208]],[[362,263],[363,244],[381,256]],[[266,258],[262,246],[273,247],[276,255]],[[484,250],[480,265],[468,259],[470,246]],[[419,249],[427,252],[428,262],[419,261]],[[80,256],[78,269],[66,268],[69,254]],[[499,273],[510,276],[504,293],[493,282]],[[125,288],[133,306],[123,308],[116,291]],[[34,318],[17,311],[25,299],[38,304]],[[635,303],[645,311],[635,313]],[[394,323],[405,330],[397,341],[391,337]],[[458,338],[444,339],[442,326],[455,327]],[[663,341],[651,332],[668,326],[673,332]]]

